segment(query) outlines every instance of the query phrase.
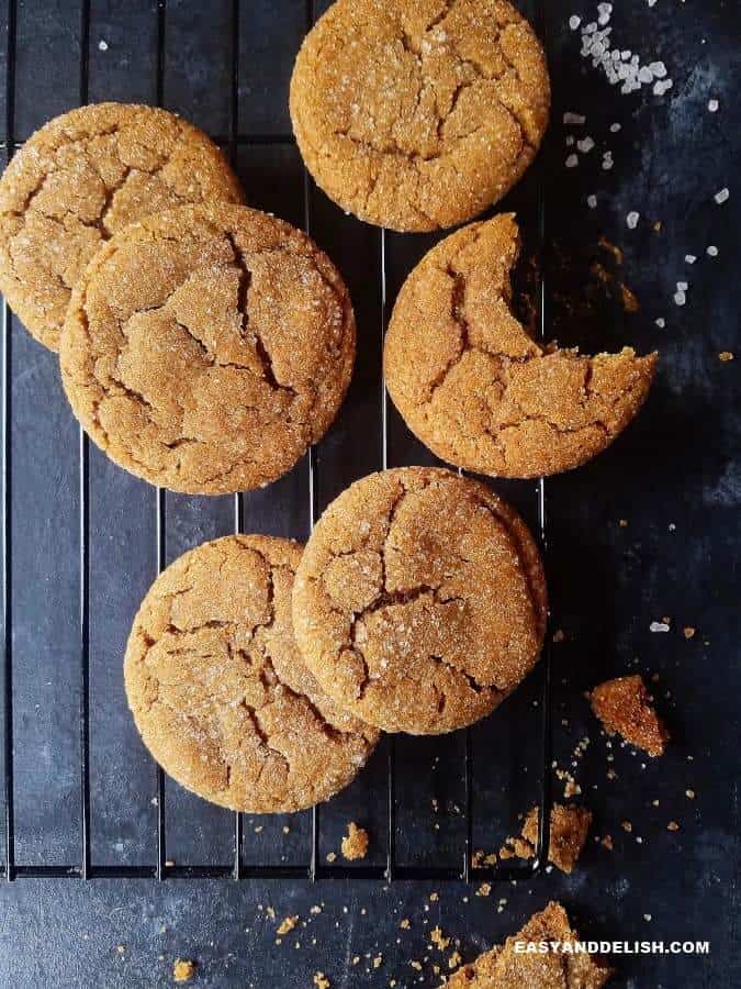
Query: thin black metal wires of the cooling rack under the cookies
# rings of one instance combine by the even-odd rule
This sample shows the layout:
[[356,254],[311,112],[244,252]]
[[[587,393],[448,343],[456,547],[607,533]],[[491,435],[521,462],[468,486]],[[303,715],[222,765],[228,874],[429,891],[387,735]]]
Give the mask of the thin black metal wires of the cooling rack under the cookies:
[[[305,29],[310,30],[315,21],[316,10],[314,0],[304,0]],[[156,103],[164,103],[164,77],[166,68],[166,33],[167,33],[167,0],[156,2]],[[290,135],[276,134],[243,134],[239,132],[239,24],[245,13],[239,0],[231,0],[231,52],[229,52],[229,104],[228,104],[228,133],[212,135],[216,143],[228,151],[228,155],[236,164],[237,153],[240,147],[250,145],[291,144]],[[16,95],[16,0],[8,0],[7,5],[7,65],[5,65],[5,135],[7,157],[10,160],[14,151],[22,142],[15,140],[15,95]],[[79,102],[89,101],[89,57],[91,43],[91,0],[81,0],[79,21]],[[536,27],[541,37],[547,34],[547,0],[538,0]],[[538,237],[539,252],[542,258],[544,249],[546,212],[544,212],[544,166],[541,160],[535,166],[540,169],[538,184]],[[303,170],[303,213],[304,227],[312,232],[312,185],[306,170]],[[388,291],[386,268],[386,232],[379,235],[378,275],[380,290],[381,311],[381,337],[385,333],[389,316],[390,298]],[[541,265],[542,270],[542,265]],[[546,285],[541,276],[538,285],[538,314],[541,336],[546,336]],[[471,744],[471,730],[465,731],[464,747],[464,820],[465,836],[462,852],[462,860],[459,866],[430,866],[400,864],[396,860],[396,776],[395,776],[395,741],[393,736],[386,737],[386,787],[385,787],[385,830],[386,855],[382,865],[353,865],[324,864],[319,862],[319,832],[322,811],[318,807],[311,811],[311,826],[308,836],[307,862],[301,865],[292,864],[246,864],[243,859],[244,847],[244,819],[240,813],[234,814],[233,826],[233,860],[223,865],[176,865],[168,860],[166,842],[166,786],[161,768],[156,769],[156,862],[144,865],[110,865],[93,862],[91,844],[91,786],[92,774],[90,764],[90,451],[89,441],[83,431],[79,431],[79,787],[80,787],[80,855],[79,860],[69,864],[23,863],[16,860],[15,855],[15,796],[18,780],[14,773],[14,690],[13,690],[13,629],[12,629],[12,551],[13,551],[13,520],[10,503],[12,484],[12,445],[11,423],[13,408],[11,401],[12,389],[10,387],[11,353],[11,315],[8,303],[2,305],[2,343],[0,354],[2,357],[2,533],[3,533],[3,559],[2,559],[2,602],[3,602],[3,797],[4,797],[4,863],[0,865],[0,877],[5,880],[18,878],[226,878],[235,880],[243,878],[292,878],[295,880],[308,879],[374,879],[377,881],[392,880],[434,880],[451,881],[463,880],[504,880],[521,878],[531,875],[542,867],[548,857],[548,829],[546,823],[550,820],[551,792],[550,792],[550,765],[551,765],[551,658],[547,635],[543,657],[539,665],[539,673],[534,676],[541,678],[540,691],[540,732],[541,732],[541,766],[540,788],[538,796],[539,808],[539,835],[536,855],[528,864],[507,864],[501,862],[495,866],[472,865],[473,854],[473,747]],[[388,396],[385,385],[380,380],[380,466],[389,466],[388,446]],[[318,463],[315,449],[311,449],[307,460],[306,504],[310,527],[314,525],[317,512],[317,477]],[[540,478],[536,488],[537,499],[537,537],[541,551],[547,559],[547,501],[546,482]],[[157,489],[155,499],[156,524],[156,563],[160,571],[166,564],[166,522],[167,504],[165,492]],[[244,530],[245,503],[243,494],[234,496],[234,530]]]

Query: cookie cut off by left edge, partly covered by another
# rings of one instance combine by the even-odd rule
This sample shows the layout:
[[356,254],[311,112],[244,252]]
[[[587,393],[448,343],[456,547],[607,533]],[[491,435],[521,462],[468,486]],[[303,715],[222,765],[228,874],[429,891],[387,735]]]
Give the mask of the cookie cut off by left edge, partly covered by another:
[[53,351],[71,289],[103,241],[186,202],[242,202],[226,159],[154,107],[93,103],[57,116],[0,179],[0,289]]

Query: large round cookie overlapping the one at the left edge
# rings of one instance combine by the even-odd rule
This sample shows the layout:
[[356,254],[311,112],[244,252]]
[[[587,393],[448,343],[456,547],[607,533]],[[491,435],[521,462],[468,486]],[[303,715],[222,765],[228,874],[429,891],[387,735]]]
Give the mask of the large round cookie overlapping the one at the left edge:
[[126,470],[222,494],[289,470],[329,427],[355,320],[332,262],[246,207],[180,207],[101,247],[72,293],[61,376]]

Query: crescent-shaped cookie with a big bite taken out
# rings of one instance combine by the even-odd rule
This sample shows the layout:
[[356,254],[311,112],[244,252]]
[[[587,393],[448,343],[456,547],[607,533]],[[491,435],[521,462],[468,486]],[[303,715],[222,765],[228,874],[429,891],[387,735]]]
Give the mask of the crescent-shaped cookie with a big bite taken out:
[[541,347],[512,311],[518,253],[508,213],[441,241],[402,286],[383,364],[394,404],[437,456],[527,478],[605,449],[642,405],[656,355]]

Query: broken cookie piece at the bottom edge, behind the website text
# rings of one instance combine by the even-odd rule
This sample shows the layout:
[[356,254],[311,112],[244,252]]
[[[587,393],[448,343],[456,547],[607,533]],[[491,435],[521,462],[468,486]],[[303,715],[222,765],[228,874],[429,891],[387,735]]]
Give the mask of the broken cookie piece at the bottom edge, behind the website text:
[[602,959],[575,952],[517,951],[517,944],[574,944],[579,935],[560,903],[535,913],[504,947],[495,947],[452,975],[448,989],[600,989],[613,971]]

